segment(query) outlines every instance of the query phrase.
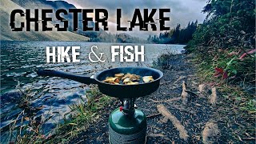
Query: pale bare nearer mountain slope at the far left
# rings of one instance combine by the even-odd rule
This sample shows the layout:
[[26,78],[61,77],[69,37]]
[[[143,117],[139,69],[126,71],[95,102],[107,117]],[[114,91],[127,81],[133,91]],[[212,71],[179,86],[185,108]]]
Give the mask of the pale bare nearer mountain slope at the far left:
[[[24,0],[26,1],[26,0]],[[19,40],[19,41],[88,41],[90,38],[84,37],[79,34],[74,34],[72,32],[57,32],[44,31],[42,32],[42,23],[39,23],[39,31],[34,30],[34,23],[31,23],[31,31],[21,31],[16,32],[10,29],[10,13],[14,9],[25,10],[22,6],[10,1],[10,0],[0,0],[0,16],[1,16],[1,38],[0,40]],[[39,1],[35,1],[39,2]],[[35,3],[31,2],[30,5],[33,6]],[[34,14],[31,14],[34,17]],[[18,18],[16,22],[25,22],[25,18]],[[48,26],[52,24],[48,23]]]

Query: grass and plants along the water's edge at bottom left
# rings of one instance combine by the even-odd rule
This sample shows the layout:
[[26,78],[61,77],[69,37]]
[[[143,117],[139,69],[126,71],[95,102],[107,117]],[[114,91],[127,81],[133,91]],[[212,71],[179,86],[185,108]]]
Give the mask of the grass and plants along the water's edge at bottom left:
[[[24,93],[25,94],[25,93]],[[22,96],[22,106],[29,104],[30,91],[26,91],[26,95]],[[18,118],[14,120],[10,126],[9,140],[13,140],[15,143],[66,143],[71,138],[76,137],[82,130],[86,130],[92,122],[95,122],[100,118],[100,113],[104,110],[104,107],[109,105],[111,98],[100,93],[98,87],[90,86],[90,90],[86,91],[86,100],[81,98],[80,102],[77,102],[70,106],[70,118],[64,118],[64,123],[57,123],[57,127],[47,135],[44,135],[43,125],[53,117],[48,118],[38,117],[28,114],[26,107],[18,115],[18,118],[22,116],[22,122],[20,126],[16,126]],[[22,108],[22,107],[21,107]],[[30,107],[32,109],[33,107]],[[33,108],[33,110],[41,110],[41,107]],[[66,117],[66,114],[64,115]],[[10,142],[12,143],[12,142]]]

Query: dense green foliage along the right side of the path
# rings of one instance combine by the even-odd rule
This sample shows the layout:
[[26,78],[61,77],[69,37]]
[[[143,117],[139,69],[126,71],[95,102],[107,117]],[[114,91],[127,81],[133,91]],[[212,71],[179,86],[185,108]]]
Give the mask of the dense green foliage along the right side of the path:
[[[236,120],[230,123],[234,128],[226,134],[234,142],[242,141],[241,131],[255,137],[254,7],[254,0],[209,0],[202,10],[207,14],[205,22],[198,26],[185,47],[197,55],[195,61],[199,63],[198,76],[202,82],[218,86],[223,96],[219,108],[224,109],[218,114],[223,113],[221,117],[230,114],[226,121],[240,118],[243,126],[235,126]],[[234,137],[235,134],[238,135]]]

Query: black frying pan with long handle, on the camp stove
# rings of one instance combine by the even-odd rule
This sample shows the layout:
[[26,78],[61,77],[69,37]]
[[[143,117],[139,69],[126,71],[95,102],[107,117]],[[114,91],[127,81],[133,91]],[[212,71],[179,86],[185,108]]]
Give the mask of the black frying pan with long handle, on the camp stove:
[[[106,77],[114,77],[114,74],[119,73],[137,74],[141,77],[153,76],[154,81],[140,83],[138,85],[114,85],[102,82],[106,79]],[[163,74],[160,70],[155,70],[147,67],[118,67],[98,72],[94,75],[94,77],[81,74],[70,74],[56,70],[38,70],[38,75],[68,78],[85,84],[97,84],[98,89],[102,92],[102,94],[106,94],[115,98],[138,98],[151,94],[155,90],[157,90]]]

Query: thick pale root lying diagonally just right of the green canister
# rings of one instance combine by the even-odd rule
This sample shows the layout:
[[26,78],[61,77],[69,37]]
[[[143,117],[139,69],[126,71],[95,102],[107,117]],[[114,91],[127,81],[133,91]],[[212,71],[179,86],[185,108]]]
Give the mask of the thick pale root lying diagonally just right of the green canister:
[[166,109],[166,106],[160,104],[157,106],[157,109],[163,116],[170,119],[170,122],[172,122],[176,129],[179,131],[179,137],[186,141],[187,138],[189,138],[189,135],[187,134],[185,127],[182,126],[181,122],[179,122],[178,119],[173,114],[171,114],[169,110]]

